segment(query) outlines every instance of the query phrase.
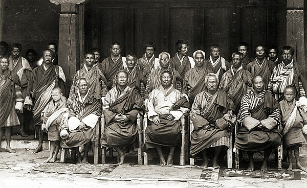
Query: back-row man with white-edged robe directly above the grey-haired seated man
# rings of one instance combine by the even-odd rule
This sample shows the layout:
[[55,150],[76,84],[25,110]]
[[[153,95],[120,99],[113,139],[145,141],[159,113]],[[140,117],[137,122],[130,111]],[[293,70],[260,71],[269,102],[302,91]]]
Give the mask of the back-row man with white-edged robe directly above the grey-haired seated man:
[[210,57],[205,61],[205,67],[221,80],[223,74],[230,68],[230,63],[221,57],[221,47],[217,44],[210,46]]

